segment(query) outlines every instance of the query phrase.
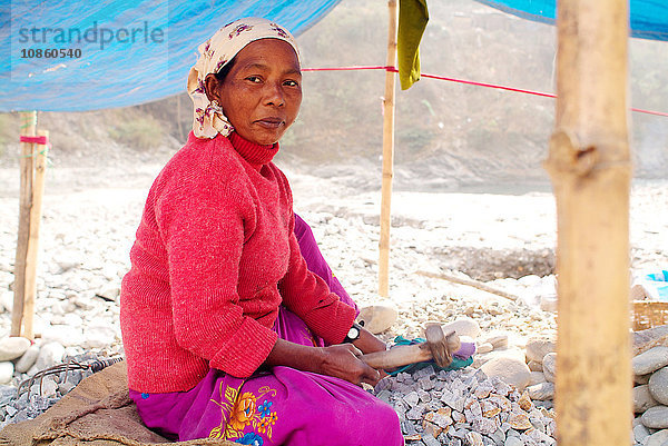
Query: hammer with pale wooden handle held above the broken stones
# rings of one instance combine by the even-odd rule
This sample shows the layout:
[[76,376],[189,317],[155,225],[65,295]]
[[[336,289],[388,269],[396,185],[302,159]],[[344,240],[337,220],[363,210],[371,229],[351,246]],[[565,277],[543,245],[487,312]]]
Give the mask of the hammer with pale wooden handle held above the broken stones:
[[396,346],[385,351],[362,355],[358,359],[376,369],[401,367],[432,359],[439,367],[448,367],[452,363],[452,354],[461,347],[456,333],[451,331],[445,335],[439,324],[433,324],[426,327],[425,337],[425,343]]

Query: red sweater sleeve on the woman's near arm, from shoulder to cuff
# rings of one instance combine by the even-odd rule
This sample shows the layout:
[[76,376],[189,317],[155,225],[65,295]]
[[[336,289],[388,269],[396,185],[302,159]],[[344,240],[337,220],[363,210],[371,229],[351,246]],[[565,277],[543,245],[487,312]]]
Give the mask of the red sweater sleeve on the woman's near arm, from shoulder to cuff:
[[238,305],[244,244],[238,195],[219,178],[197,172],[163,195],[156,218],[167,249],[177,343],[210,367],[246,377],[266,359],[277,335]]

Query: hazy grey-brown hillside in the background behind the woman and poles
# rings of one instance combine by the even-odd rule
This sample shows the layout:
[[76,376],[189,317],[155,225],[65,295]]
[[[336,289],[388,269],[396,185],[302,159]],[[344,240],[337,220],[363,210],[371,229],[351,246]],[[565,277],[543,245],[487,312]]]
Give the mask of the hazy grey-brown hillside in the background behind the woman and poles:
[[[472,0],[430,3],[422,70],[453,78],[552,91],[554,28],[521,20]],[[344,0],[299,37],[304,67],[384,65],[386,3]],[[222,20],[223,22],[224,20]],[[631,41],[632,105],[666,111],[668,44]],[[185,80],[184,80],[185,83]],[[376,175],[382,146],[384,73],[308,72],[298,120],[278,162],[320,176]],[[423,79],[397,91],[396,186],[452,189],[463,185],[546,182],[541,161],[553,100]],[[40,113],[51,130],[52,158],[63,165],[161,160],[190,126],[184,93],[161,101],[80,113]],[[665,178],[668,119],[632,113],[636,175]],[[0,115],[0,156],[16,163],[18,117]]]

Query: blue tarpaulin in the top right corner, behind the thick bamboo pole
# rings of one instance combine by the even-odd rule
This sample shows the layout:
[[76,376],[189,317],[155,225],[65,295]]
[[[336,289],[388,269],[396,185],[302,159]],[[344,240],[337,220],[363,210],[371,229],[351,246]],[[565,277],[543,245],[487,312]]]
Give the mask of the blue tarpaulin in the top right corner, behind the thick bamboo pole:
[[[553,24],[557,18],[556,0],[477,1],[533,21]],[[668,1],[630,0],[629,7],[631,37],[650,40],[668,40]]]

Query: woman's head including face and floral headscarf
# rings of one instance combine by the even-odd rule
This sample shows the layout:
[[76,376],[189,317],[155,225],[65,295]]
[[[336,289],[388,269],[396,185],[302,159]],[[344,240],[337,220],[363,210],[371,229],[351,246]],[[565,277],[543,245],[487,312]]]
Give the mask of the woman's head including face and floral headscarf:
[[199,138],[239,136],[274,143],[293,123],[302,100],[298,50],[293,37],[265,19],[237,20],[199,47],[188,93]]

